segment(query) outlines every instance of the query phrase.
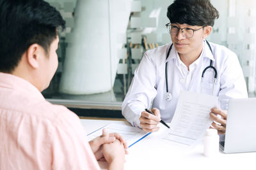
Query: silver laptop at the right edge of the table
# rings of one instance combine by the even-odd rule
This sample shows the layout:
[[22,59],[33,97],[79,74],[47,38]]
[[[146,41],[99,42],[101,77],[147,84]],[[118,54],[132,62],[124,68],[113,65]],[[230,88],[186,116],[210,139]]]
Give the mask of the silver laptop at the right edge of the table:
[[256,98],[230,99],[224,153],[256,152]]

